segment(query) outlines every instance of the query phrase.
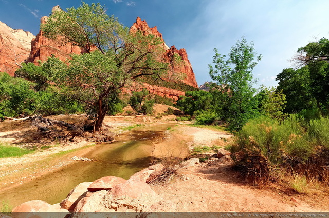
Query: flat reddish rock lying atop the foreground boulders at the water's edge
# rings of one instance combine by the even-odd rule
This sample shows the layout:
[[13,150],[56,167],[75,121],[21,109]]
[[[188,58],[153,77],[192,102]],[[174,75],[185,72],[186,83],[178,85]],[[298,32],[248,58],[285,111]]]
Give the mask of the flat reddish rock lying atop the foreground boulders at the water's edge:
[[88,191],[95,192],[100,190],[111,190],[112,187],[124,183],[126,180],[116,176],[106,176],[95,180],[88,187]]

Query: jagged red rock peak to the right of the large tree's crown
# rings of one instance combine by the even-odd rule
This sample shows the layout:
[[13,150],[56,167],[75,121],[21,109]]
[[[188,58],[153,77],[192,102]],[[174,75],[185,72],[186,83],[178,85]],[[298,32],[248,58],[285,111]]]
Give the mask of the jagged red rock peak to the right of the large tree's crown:
[[[133,26],[130,28],[130,33],[135,33],[136,31],[142,31],[144,35],[153,34],[157,37],[160,37],[163,41],[162,34],[158,32],[157,27],[150,28],[146,21],[141,21],[139,17],[137,17],[136,22],[133,24]],[[175,64],[173,63],[172,70],[173,73],[182,73],[183,75],[186,75],[186,77],[182,80],[182,82],[193,86],[195,88],[198,88],[198,85],[195,80],[195,75],[192,69],[192,65],[187,57],[187,53],[185,49],[176,49],[175,46],[172,46],[169,48],[165,41],[163,41],[163,48],[166,49],[166,53],[164,54],[164,58],[168,63],[173,63],[174,55],[177,54],[182,59],[182,64]]]

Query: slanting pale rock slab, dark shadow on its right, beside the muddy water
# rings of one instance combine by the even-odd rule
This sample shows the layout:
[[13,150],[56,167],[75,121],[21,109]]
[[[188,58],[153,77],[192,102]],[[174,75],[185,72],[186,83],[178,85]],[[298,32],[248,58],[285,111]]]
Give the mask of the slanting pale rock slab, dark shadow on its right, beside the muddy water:
[[80,199],[86,196],[90,184],[92,184],[92,182],[83,182],[77,185],[70,191],[66,199],[60,203],[61,207],[67,209],[70,212],[73,211]]

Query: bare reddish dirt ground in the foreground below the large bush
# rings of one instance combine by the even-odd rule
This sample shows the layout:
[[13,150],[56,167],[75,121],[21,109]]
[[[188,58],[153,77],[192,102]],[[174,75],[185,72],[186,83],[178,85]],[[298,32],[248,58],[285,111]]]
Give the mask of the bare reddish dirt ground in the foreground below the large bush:
[[[153,190],[166,206],[159,211],[177,212],[315,212],[328,211],[326,203],[316,207],[303,196],[287,196],[242,183],[226,165],[194,166],[179,170],[179,177]],[[326,200],[328,201],[328,199]],[[328,202],[327,202],[328,203]]]

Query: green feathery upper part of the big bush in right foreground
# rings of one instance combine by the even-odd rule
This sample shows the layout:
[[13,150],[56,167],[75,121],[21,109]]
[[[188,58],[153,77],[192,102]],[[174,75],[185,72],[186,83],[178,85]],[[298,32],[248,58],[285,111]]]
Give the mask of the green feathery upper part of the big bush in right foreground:
[[284,162],[288,155],[306,161],[316,151],[313,137],[300,125],[296,116],[283,122],[261,116],[250,120],[237,134],[236,145],[267,157],[273,164]]

